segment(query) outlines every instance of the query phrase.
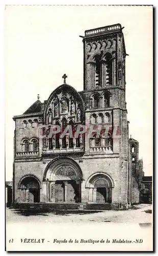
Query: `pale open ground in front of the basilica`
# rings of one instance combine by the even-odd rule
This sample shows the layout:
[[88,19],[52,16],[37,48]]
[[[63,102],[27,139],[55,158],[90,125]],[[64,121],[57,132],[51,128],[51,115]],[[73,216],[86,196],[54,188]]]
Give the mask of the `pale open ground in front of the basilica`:
[[[152,223],[152,205],[140,204],[129,210],[101,210],[99,212],[84,211],[76,214],[76,211],[44,212],[38,215],[21,215],[21,212],[6,208],[6,221],[9,222],[42,222],[42,223],[77,223],[77,222],[111,222],[111,223]],[[149,210],[149,211],[148,211]],[[147,212],[145,212],[147,211]]]

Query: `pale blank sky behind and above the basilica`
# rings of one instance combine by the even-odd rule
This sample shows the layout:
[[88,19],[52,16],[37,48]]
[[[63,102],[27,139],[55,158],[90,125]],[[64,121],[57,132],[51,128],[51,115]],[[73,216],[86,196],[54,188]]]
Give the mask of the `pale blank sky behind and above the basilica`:
[[152,175],[152,7],[7,6],[5,10],[6,180],[12,179],[14,115],[46,100],[63,83],[83,90],[79,35],[120,23],[126,53],[129,135],[139,141],[146,176]]

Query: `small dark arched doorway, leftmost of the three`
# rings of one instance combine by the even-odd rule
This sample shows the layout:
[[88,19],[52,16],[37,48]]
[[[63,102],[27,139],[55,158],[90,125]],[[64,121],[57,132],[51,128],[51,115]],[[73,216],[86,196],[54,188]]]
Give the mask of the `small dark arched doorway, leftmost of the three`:
[[40,202],[40,182],[32,176],[24,176],[19,182],[20,201],[23,203],[39,203]]

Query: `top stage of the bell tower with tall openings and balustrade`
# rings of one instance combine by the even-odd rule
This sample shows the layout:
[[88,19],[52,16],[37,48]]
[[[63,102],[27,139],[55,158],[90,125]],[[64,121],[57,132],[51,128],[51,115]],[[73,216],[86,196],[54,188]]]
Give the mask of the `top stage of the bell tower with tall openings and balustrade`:
[[85,31],[84,90],[125,89],[125,45],[120,24]]

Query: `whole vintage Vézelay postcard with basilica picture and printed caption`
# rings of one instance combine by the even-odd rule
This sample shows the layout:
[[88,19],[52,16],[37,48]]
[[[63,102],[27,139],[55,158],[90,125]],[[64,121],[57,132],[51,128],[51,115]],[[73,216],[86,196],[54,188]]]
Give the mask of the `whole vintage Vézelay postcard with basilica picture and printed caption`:
[[7,251],[153,251],[153,6],[5,7]]

